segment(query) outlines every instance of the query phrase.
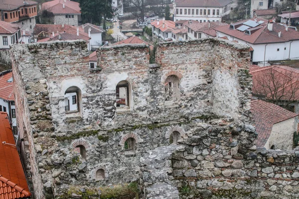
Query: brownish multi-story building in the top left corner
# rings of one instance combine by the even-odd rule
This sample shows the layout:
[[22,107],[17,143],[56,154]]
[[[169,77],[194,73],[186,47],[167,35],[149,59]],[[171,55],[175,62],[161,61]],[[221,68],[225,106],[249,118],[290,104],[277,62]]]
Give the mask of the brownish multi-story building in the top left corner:
[[9,23],[19,23],[25,30],[31,30],[35,25],[37,2],[32,0],[1,0],[0,20]]

